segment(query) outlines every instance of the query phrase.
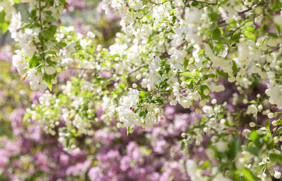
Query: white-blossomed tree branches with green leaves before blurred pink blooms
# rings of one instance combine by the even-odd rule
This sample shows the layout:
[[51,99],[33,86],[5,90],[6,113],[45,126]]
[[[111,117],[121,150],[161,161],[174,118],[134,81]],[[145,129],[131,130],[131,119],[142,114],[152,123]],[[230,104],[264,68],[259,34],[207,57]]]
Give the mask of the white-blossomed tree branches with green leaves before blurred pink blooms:
[[[280,178],[281,1],[103,1],[106,15],[121,18],[110,46],[61,26],[67,6],[0,3],[2,32],[18,42],[13,65],[31,89],[46,90],[24,122],[37,120],[70,152],[86,146],[78,140],[92,138],[100,119],[135,134],[175,107],[194,115],[179,143],[190,180]],[[57,86],[69,69],[81,72]]]

